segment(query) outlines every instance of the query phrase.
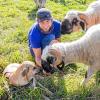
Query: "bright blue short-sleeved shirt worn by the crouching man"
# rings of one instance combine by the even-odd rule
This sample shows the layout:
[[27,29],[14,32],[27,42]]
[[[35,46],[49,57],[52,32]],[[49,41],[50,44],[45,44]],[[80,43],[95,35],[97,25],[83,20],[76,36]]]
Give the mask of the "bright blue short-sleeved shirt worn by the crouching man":
[[[52,37],[53,39],[59,38],[61,36],[61,23],[57,20],[53,20],[51,30],[44,33],[39,24],[36,22],[28,34],[28,42],[30,48],[43,48],[43,40],[45,37]],[[45,41],[44,41],[45,42]]]

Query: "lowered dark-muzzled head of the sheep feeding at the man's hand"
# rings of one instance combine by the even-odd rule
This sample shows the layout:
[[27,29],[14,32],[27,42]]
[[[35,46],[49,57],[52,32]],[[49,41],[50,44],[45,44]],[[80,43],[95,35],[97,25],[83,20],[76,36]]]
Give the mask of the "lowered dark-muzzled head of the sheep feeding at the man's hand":
[[41,63],[47,73],[54,73],[54,67],[62,70],[62,67],[59,67],[60,64],[63,64],[61,53],[51,48],[51,46],[47,46],[43,50]]

